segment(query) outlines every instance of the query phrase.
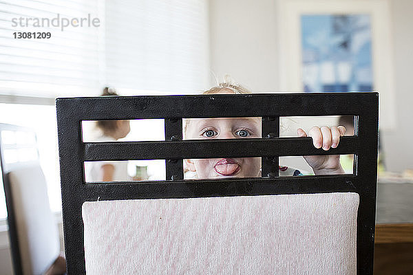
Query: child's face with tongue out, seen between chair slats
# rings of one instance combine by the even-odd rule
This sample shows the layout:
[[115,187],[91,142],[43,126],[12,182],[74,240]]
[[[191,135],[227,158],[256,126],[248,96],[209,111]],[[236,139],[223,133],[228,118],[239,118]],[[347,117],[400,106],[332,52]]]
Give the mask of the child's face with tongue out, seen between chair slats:
[[[193,118],[187,122],[188,140],[260,138],[261,118]],[[199,178],[258,177],[260,157],[187,159],[189,170]]]

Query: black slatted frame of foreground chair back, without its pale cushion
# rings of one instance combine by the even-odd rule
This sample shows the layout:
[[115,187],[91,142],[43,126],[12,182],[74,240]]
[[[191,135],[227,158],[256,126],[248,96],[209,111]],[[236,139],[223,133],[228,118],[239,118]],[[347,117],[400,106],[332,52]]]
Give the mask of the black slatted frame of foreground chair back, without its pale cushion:
[[[372,274],[377,186],[377,93],[242,94],[56,100],[68,274],[84,274],[82,204],[117,199],[357,192],[357,273]],[[323,151],[310,137],[279,137],[282,116],[354,115],[355,135]],[[182,140],[182,118],[262,117],[262,139]],[[165,141],[82,140],[83,120],[165,119]],[[156,149],[154,149],[156,148]],[[202,150],[200,150],[202,148]],[[353,175],[279,177],[278,158],[354,154]],[[183,159],[262,157],[261,178],[184,180]],[[165,181],[85,184],[83,162],[166,159]]]

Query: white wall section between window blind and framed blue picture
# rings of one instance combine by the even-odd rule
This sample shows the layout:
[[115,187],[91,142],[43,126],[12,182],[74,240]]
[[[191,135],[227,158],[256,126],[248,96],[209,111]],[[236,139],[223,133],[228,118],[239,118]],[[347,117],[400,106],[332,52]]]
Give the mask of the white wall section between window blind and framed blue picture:
[[277,91],[275,0],[210,0],[211,70],[253,91]]

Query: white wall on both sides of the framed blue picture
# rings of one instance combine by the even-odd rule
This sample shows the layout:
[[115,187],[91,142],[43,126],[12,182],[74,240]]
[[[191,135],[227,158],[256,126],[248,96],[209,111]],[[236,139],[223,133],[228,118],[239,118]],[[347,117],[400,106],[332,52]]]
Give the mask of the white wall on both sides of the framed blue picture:
[[[253,91],[279,91],[277,0],[209,3],[212,71]],[[390,7],[397,128],[383,131],[381,140],[388,170],[401,172],[413,169],[413,1],[390,0]]]

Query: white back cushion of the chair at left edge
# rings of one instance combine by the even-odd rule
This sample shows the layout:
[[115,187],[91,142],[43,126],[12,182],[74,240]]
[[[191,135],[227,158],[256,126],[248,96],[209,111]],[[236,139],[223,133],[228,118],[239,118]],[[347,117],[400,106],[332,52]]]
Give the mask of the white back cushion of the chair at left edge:
[[50,210],[45,176],[36,165],[15,169],[8,177],[23,274],[43,274],[60,254],[59,230]]

